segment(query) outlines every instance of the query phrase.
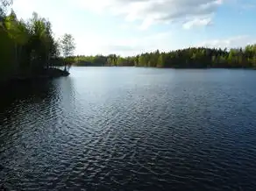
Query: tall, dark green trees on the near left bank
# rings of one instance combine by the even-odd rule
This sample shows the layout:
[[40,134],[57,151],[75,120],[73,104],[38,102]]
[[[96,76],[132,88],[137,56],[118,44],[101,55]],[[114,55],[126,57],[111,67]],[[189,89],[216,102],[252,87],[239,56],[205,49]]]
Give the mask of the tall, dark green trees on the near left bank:
[[[71,35],[53,36],[52,25],[37,13],[28,20],[11,11],[11,0],[0,0],[0,81],[37,75],[53,66],[65,66],[75,45]],[[62,56],[62,57],[60,57]]]

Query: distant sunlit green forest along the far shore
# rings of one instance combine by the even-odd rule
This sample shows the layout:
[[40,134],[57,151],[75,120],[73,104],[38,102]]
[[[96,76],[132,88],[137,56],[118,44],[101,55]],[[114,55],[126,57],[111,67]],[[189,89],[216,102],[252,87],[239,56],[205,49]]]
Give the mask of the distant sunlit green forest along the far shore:
[[256,45],[245,48],[217,49],[191,47],[160,53],[142,53],[133,57],[76,56],[76,66],[134,66],[134,67],[175,67],[175,68],[251,68],[256,67]]

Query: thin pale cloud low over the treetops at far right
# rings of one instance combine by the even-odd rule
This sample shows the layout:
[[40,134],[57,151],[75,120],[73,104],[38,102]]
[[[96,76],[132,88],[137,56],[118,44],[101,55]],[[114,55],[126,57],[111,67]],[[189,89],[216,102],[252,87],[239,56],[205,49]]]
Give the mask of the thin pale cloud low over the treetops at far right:
[[198,46],[206,47],[217,47],[217,48],[234,48],[234,47],[244,47],[247,45],[255,44],[256,37],[248,35],[240,35],[227,39],[210,39],[199,43]]

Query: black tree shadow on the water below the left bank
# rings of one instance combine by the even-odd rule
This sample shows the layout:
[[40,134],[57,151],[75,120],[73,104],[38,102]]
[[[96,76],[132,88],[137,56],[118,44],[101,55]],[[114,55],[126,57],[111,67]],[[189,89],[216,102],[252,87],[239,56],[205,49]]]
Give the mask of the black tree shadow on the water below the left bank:
[[11,123],[24,111],[34,112],[32,108],[40,107],[42,103],[50,107],[55,97],[60,96],[58,81],[61,81],[61,78],[57,80],[22,81],[2,86],[0,124]]

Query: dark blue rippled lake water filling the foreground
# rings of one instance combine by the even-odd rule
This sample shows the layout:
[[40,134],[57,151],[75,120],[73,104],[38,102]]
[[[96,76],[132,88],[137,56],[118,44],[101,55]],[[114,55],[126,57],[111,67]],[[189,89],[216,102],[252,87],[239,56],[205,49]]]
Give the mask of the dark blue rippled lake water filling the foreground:
[[11,190],[256,189],[256,71],[74,67],[1,95]]

